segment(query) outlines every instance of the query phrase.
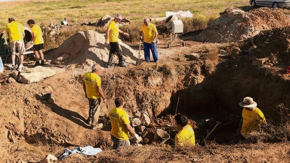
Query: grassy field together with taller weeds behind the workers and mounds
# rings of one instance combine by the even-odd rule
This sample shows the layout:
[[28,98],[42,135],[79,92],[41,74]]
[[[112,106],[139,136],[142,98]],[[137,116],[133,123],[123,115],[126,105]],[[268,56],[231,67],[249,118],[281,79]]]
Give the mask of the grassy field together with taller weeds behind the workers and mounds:
[[[184,18],[184,32],[203,29],[208,23],[219,17],[219,13],[229,7],[250,9],[250,5],[245,1],[237,0],[156,0],[148,1],[144,5],[143,1],[117,1],[117,0],[47,0],[47,1],[16,1],[0,2],[2,14],[0,15],[0,30],[4,30],[8,23],[8,18],[13,17],[16,21],[26,25],[27,20],[34,19],[37,24],[46,27],[51,23],[60,24],[64,18],[69,25],[73,25],[70,30],[62,31],[54,39],[48,38],[45,43],[45,50],[58,47],[64,40],[78,31],[93,29],[100,33],[105,33],[106,28],[94,26],[80,26],[81,23],[97,22],[104,15],[114,16],[121,13],[124,18],[131,20],[129,26],[120,27],[130,33],[127,41],[135,40],[139,36],[139,28],[145,16],[150,18],[165,17],[166,11],[190,11],[192,18]],[[158,22],[153,22],[158,23]],[[156,25],[160,34],[166,34],[166,27],[159,23]],[[57,38],[56,38],[57,37]],[[121,36],[122,37],[122,36]]]

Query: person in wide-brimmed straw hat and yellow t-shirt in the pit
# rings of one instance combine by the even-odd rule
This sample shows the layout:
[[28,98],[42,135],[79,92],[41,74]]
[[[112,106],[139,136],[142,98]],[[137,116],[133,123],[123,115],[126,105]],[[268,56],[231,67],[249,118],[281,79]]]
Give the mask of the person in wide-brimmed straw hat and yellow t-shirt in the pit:
[[241,133],[243,138],[246,138],[250,132],[257,130],[261,125],[267,126],[264,114],[252,97],[245,97],[239,105],[244,108],[237,134]]

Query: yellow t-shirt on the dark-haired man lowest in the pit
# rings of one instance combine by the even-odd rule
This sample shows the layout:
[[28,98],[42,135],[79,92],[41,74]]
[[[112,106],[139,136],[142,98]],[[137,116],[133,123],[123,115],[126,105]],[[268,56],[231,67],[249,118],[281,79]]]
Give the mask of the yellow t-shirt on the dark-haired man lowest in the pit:
[[194,131],[190,125],[186,125],[185,129],[182,129],[175,136],[176,145],[195,145]]

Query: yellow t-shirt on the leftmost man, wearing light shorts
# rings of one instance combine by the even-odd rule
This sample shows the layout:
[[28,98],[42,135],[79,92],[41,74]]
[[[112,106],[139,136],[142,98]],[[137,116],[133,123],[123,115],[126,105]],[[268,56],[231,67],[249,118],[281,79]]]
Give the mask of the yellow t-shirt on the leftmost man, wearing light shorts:
[[23,31],[24,31],[23,25],[18,22],[13,21],[6,25],[6,32],[9,34],[10,42],[13,42],[13,41],[24,42],[23,35],[22,35]]

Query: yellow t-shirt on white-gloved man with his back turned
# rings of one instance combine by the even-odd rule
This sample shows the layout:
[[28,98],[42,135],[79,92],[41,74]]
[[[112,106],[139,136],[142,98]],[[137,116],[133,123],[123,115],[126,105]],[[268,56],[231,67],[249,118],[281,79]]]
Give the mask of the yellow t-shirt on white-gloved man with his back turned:
[[129,140],[129,131],[125,125],[130,124],[129,115],[122,108],[115,107],[109,112],[111,134],[119,140]]

